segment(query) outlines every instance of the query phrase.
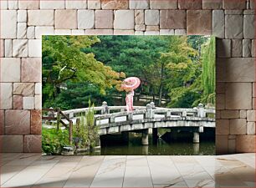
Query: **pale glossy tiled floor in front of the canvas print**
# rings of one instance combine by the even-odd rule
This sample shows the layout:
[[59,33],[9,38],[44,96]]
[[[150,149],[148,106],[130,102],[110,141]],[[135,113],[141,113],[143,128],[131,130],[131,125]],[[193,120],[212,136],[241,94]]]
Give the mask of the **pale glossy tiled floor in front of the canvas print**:
[[1,154],[1,187],[255,187],[255,154]]

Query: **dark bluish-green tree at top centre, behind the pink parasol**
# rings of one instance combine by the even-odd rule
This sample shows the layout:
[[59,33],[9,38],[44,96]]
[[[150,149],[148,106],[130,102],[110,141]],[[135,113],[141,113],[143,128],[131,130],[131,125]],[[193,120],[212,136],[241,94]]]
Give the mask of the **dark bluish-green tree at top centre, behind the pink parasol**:
[[[169,37],[163,36],[99,36],[100,43],[84,48],[85,53],[95,53],[95,58],[116,72],[125,72],[127,77],[141,79],[136,93],[158,95],[155,80],[149,67],[156,64],[161,52],[167,52]],[[158,77],[159,75],[156,75]],[[115,93],[115,92],[114,92]]]

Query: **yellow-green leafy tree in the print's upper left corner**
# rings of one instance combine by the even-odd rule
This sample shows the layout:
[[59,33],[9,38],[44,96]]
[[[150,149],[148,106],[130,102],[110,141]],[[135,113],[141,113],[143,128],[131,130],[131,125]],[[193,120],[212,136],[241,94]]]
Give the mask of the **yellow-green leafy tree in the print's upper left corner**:
[[67,82],[95,85],[100,94],[120,84],[123,73],[95,59],[94,53],[82,48],[100,42],[95,36],[44,36],[43,38],[43,100],[54,100]]

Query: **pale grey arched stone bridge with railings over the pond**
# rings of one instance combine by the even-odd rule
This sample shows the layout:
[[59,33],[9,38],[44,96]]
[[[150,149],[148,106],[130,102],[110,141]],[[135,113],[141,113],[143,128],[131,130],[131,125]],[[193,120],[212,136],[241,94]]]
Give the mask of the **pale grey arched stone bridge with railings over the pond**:
[[[157,136],[158,128],[182,128],[193,132],[193,142],[199,143],[199,133],[204,127],[215,128],[215,109],[204,109],[199,104],[194,109],[157,108],[154,103],[136,106],[133,112],[125,111],[125,106],[108,106],[105,102],[95,107],[95,125],[99,135],[109,135],[134,131],[142,133],[142,145],[148,145],[149,129]],[[89,109],[64,111],[70,119]],[[123,135],[122,134],[122,135]]]

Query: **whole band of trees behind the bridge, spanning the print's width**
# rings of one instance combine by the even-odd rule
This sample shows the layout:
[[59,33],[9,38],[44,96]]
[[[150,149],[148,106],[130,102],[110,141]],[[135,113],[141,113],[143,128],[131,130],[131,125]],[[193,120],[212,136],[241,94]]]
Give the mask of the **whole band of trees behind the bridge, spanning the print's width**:
[[[123,105],[120,80],[136,76],[158,106],[215,103],[215,41],[202,36],[46,36],[44,107],[77,109],[107,101]],[[122,99],[116,99],[120,96]],[[162,99],[166,103],[162,103]],[[148,103],[149,101],[145,102]],[[146,104],[143,104],[146,105]]]

